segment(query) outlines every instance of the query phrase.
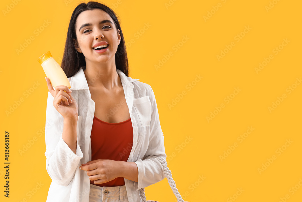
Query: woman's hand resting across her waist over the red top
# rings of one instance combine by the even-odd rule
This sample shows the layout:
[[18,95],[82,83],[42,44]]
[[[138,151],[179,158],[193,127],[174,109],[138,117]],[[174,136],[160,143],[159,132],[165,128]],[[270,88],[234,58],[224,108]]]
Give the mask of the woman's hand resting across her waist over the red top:
[[88,161],[80,166],[80,169],[87,171],[89,180],[94,180],[95,184],[103,184],[114,180],[120,176],[121,164],[119,161],[109,159],[97,159]]

